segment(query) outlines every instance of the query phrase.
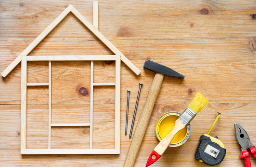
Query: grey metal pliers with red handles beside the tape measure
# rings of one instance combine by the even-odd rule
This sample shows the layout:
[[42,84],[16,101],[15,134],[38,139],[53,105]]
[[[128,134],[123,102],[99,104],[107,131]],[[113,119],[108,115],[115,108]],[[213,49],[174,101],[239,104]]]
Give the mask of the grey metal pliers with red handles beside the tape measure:
[[241,146],[240,158],[244,158],[245,167],[251,167],[250,156],[249,153],[247,152],[247,149],[250,149],[251,154],[253,155],[254,158],[256,158],[256,148],[250,142],[250,138],[247,135],[247,132],[238,123],[235,123],[235,134],[237,142]]

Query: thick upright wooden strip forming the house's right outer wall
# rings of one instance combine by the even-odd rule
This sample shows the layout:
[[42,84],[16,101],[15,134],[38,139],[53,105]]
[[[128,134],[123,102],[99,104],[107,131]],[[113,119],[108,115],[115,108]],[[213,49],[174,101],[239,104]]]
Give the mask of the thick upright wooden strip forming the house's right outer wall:
[[121,57],[116,57],[116,99],[115,99],[115,149],[120,149],[120,84],[121,84]]

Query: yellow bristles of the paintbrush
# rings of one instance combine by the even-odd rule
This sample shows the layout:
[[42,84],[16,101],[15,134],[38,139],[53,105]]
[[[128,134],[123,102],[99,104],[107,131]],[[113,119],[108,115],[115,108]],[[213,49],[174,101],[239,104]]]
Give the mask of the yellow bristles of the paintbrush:
[[199,111],[201,111],[209,101],[201,95],[199,92],[195,95],[193,100],[188,105],[188,108],[191,109],[195,114],[197,114]]

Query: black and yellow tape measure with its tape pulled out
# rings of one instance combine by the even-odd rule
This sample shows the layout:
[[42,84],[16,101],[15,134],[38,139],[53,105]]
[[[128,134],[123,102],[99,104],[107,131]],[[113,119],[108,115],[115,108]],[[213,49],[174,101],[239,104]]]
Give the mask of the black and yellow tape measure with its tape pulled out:
[[217,112],[218,116],[213,122],[210,130],[207,134],[203,134],[200,137],[195,158],[197,161],[203,162],[206,165],[214,166],[218,165],[221,161],[223,161],[226,155],[226,149],[224,144],[218,139],[218,137],[211,137],[209,133],[213,128],[214,124],[218,120],[221,113]]

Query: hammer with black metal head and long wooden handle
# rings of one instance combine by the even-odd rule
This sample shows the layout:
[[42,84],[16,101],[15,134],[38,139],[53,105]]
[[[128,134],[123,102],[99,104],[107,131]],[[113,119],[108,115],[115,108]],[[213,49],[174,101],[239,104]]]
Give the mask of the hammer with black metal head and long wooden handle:
[[170,69],[169,67],[163,66],[161,64],[152,62],[150,60],[146,60],[144,63],[144,68],[154,71],[155,77],[154,80],[150,86],[146,103],[143,107],[143,110],[141,112],[139,121],[137,123],[134,135],[132,137],[132,142],[127,154],[127,157],[124,162],[123,167],[133,167],[134,162],[136,160],[137,154],[139,152],[139,148],[142,144],[144,135],[147,130],[147,125],[149,122],[149,119],[151,117],[151,113],[153,111],[156,98],[159,94],[164,76],[170,76],[170,77],[177,77],[184,79],[185,77],[181,75],[180,73]]

